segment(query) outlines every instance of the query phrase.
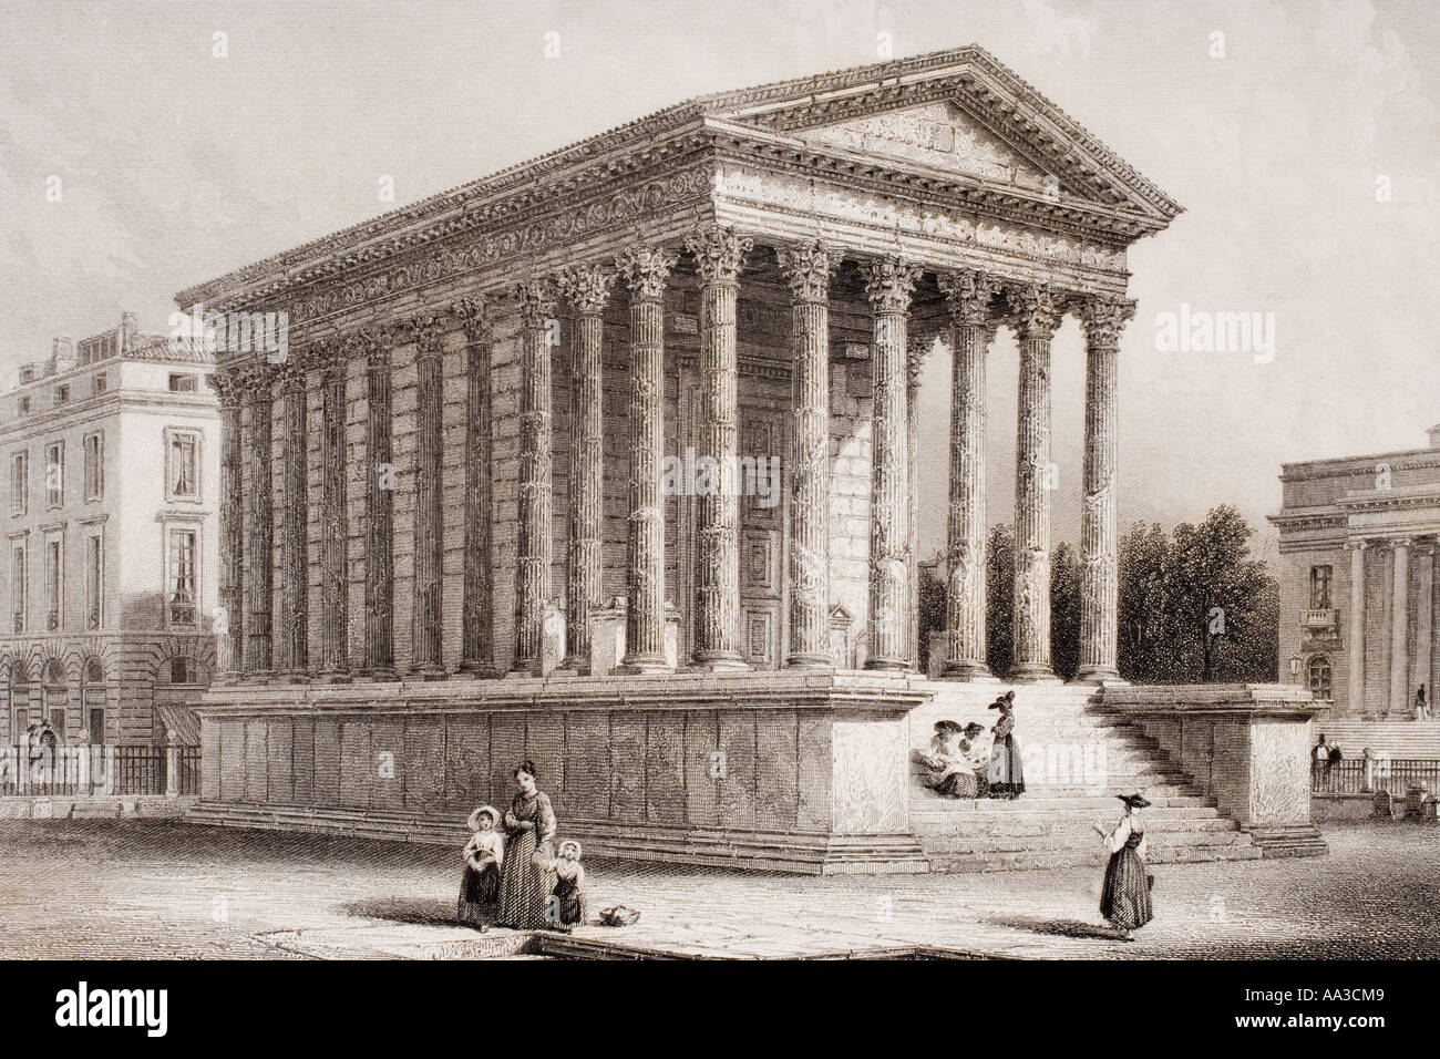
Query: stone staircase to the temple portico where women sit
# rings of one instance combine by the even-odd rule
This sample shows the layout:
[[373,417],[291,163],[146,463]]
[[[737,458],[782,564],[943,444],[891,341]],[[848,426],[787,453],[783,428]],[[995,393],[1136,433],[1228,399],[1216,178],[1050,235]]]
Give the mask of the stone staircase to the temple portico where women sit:
[[[929,742],[942,718],[995,723],[986,710],[1004,684],[932,682],[935,699],[910,718],[910,743]],[[930,859],[932,872],[1102,864],[1107,853],[1096,823],[1113,827],[1117,794],[1145,792],[1149,863],[1257,860],[1284,854],[1283,844],[1261,850],[1212,800],[1195,792],[1140,729],[1090,703],[1093,690],[1061,684],[1015,689],[1015,732],[1025,761],[1025,794],[1012,801],[956,800],[924,785],[924,769],[912,764],[910,828]]]

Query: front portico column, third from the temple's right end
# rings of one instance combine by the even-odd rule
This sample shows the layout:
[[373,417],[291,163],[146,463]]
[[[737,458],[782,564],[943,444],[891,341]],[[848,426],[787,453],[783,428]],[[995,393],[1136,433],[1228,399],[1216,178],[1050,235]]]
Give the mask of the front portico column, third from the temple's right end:
[[991,676],[985,645],[985,356],[995,336],[984,272],[940,277],[950,308],[950,504],[946,519],[945,676]]

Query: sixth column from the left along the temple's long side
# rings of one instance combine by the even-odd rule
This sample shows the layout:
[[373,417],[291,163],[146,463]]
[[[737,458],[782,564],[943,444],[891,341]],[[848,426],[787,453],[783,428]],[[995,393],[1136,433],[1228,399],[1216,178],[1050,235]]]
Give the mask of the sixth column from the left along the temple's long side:
[[441,578],[445,562],[441,519],[441,401],[444,329],[438,316],[422,313],[409,320],[415,341],[415,644],[410,666],[423,680],[445,676],[441,666]]

